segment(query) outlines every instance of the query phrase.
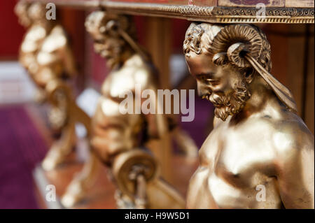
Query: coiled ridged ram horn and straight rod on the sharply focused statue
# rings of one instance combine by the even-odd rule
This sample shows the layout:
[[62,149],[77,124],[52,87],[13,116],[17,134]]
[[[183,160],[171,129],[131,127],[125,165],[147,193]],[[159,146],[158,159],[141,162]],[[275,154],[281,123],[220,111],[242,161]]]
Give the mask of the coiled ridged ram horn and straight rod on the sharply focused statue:
[[[232,43],[232,45],[231,45]],[[214,37],[210,50],[214,55],[227,52],[229,61],[239,68],[253,66],[262,78],[272,87],[278,98],[293,112],[297,112],[297,106],[293,94],[288,88],[276,80],[262,64],[264,41],[260,31],[249,24],[231,24],[223,27]]]

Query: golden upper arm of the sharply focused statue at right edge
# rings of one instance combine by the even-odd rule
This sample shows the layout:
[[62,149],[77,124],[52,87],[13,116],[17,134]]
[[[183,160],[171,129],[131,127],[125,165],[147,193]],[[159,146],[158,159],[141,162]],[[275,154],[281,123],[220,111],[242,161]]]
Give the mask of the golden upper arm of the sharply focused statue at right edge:
[[[294,134],[294,135],[293,135]],[[276,133],[276,177],[285,208],[314,208],[314,136],[307,128]]]

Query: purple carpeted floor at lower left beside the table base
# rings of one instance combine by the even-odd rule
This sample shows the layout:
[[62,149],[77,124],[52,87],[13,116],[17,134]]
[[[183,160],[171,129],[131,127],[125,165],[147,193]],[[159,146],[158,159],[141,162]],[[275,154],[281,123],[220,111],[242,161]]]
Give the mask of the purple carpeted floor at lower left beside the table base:
[[46,151],[23,106],[0,107],[0,208],[38,208],[32,170]]

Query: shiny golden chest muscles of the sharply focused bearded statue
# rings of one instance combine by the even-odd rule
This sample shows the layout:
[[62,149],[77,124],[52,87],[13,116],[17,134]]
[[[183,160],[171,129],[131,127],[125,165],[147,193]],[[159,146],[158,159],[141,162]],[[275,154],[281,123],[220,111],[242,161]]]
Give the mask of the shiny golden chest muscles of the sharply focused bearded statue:
[[211,174],[232,184],[255,184],[253,178],[272,171],[274,150],[270,134],[264,124],[248,122],[230,127],[223,123],[202,145],[202,164],[209,167]]

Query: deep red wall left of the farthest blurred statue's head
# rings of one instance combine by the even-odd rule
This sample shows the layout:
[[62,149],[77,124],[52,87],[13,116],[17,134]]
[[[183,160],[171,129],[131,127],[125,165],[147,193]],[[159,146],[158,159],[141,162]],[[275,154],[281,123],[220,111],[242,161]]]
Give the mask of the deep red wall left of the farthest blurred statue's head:
[[25,30],[13,9],[17,0],[0,1],[0,59],[17,59]]

